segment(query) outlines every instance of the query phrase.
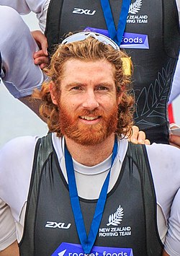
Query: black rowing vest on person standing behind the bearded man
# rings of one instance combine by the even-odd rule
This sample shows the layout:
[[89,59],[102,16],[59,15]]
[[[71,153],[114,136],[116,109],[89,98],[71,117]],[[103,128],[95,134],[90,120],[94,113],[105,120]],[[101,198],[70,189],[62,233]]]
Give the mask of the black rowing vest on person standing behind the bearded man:
[[[122,0],[109,0],[117,25]],[[45,35],[50,51],[68,32],[93,27],[107,30],[100,0],[51,0]],[[179,19],[175,0],[132,0],[124,38],[140,48],[126,48],[135,70],[132,77],[137,109],[134,120],[151,143],[168,144],[167,102],[179,55]],[[148,44],[148,48],[147,48]]]

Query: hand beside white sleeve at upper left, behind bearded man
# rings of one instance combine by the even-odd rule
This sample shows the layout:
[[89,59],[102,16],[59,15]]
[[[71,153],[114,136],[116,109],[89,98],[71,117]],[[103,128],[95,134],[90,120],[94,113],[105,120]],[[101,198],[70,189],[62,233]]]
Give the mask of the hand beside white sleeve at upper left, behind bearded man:
[[49,65],[50,59],[48,57],[48,41],[45,35],[40,30],[32,31],[32,37],[34,37],[40,50],[34,53],[33,58],[36,65],[40,65],[40,69],[44,69]]

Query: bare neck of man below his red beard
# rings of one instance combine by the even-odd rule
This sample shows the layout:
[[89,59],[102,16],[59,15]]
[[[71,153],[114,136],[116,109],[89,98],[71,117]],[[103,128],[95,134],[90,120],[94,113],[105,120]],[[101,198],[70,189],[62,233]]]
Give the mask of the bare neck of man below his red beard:
[[114,146],[114,134],[106,138],[105,141],[102,141],[101,144],[94,146],[77,144],[75,141],[71,140],[71,138],[67,138],[66,136],[65,139],[66,146],[73,159],[86,166],[94,166],[103,162],[110,156],[110,154],[112,154]]

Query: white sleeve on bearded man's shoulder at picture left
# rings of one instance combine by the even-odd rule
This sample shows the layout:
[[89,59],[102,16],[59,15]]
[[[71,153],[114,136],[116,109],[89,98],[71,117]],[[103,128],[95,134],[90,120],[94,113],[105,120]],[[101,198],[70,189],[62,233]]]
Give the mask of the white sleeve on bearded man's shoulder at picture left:
[[18,137],[0,150],[0,198],[12,208],[15,219],[27,200],[36,142],[35,136]]

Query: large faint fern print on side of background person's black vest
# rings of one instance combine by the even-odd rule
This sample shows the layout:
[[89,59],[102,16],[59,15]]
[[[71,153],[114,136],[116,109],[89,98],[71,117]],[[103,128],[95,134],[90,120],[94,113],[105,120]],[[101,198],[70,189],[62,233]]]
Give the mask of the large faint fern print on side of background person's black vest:
[[136,105],[141,106],[140,110],[135,111],[134,120],[143,128],[160,125],[166,120],[167,92],[171,88],[172,66],[172,61],[168,61],[167,66],[158,72],[156,80],[148,87],[143,87],[141,92],[132,89],[132,94],[138,96]]

